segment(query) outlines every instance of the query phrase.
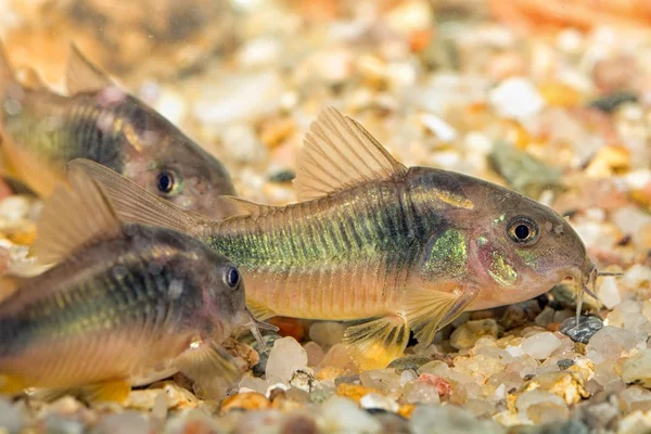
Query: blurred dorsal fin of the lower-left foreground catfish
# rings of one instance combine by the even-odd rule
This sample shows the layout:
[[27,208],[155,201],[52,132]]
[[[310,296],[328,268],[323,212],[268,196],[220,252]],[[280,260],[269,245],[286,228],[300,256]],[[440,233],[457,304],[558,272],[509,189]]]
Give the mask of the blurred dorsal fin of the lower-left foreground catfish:
[[119,220],[99,182],[78,168],[68,170],[69,189],[60,184],[46,202],[37,224],[34,253],[41,264],[120,234]]

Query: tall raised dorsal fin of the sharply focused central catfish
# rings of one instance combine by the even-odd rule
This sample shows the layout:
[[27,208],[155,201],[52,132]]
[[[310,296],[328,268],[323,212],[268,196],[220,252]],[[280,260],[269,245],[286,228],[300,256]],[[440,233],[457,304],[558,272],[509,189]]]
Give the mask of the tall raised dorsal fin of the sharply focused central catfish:
[[305,136],[294,186],[307,201],[406,171],[361,125],[328,107]]

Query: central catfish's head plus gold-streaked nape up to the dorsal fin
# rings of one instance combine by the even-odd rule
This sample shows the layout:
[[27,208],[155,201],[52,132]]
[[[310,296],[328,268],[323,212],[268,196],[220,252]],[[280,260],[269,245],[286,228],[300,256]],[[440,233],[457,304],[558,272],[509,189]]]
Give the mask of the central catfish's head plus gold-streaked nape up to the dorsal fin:
[[583,241],[553,209],[461,174],[418,168],[408,179],[417,212],[432,216],[437,233],[452,228],[465,241],[465,277],[482,290],[477,308],[529,299],[567,277],[584,289],[593,282]]

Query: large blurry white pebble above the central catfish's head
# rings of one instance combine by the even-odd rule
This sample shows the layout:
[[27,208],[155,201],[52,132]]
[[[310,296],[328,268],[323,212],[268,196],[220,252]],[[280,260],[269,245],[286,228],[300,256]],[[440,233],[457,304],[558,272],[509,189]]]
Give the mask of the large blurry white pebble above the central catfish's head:
[[545,106],[535,86],[521,77],[506,79],[490,91],[488,99],[500,116],[519,120],[537,115]]

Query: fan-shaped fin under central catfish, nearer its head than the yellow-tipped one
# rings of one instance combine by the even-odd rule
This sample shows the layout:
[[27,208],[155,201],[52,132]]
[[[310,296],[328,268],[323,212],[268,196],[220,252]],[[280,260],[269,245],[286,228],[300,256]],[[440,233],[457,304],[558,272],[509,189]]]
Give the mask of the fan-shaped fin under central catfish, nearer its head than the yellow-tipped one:
[[480,291],[464,288],[459,294],[419,288],[408,292],[407,318],[416,339],[424,344],[434,340],[436,331],[457,318]]

